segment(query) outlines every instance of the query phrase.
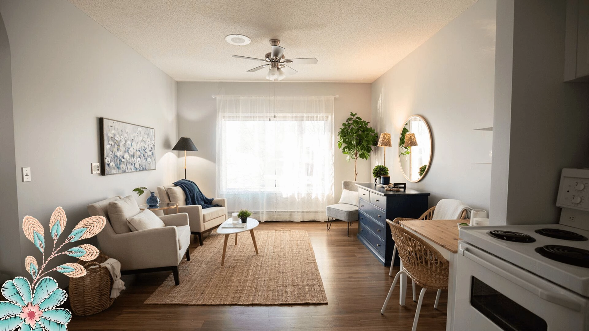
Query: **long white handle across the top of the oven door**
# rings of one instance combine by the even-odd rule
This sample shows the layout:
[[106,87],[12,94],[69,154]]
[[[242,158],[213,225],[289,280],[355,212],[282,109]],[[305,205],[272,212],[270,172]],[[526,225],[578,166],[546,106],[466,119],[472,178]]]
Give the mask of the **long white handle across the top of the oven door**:
[[481,266],[509,280],[509,282],[517,284],[518,286],[523,287],[531,293],[536,294],[541,299],[558,304],[563,307],[573,309],[575,312],[581,311],[583,303],[579,302],[578,300],[575,300],[575,298],[566,296],[565,294],[561,293],[548,292],[547,290],[541,289],[540,287],[536,286],[535,284],[532,284],[531,282],[522,280],[520,277],[525,279],[529,278],[529,276],[526,274],[526,271],[520,269],[519,267],[516,267],[511,263],[507,263],[498,259],[494,259],[493,262],[488,261],[484,259],[484,257],[477,256],[476,254],[472,253],[467,249],[468,247],[460,247],[459,253],[467,259],[472,260],[475,263],[481,264]]

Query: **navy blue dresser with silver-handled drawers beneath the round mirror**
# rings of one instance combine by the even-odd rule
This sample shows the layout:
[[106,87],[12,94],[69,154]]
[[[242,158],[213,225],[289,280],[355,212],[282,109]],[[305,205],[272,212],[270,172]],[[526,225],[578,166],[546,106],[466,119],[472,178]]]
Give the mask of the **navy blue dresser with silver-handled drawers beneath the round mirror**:
[[[417,219],[428,210],[429,193],[407,188],[406,191],[385,191],[374,183],[358,183],[358,240],[385,266],[391,266],[393,245],[386,219],[397,217]],[[399,257],[395,257],[395,265]]]

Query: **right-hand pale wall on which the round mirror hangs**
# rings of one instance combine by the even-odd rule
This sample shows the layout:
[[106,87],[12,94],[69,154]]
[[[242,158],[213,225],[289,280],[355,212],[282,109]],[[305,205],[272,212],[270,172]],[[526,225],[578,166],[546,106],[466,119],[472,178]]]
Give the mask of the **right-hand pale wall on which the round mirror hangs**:
[[494,28],[495,0],[479,0],[372,83],[372,120],[393,145],[409,115],[429,123],[434,155],[421,181],[405,180],[395,147],[386,165],[391,181],[431,193],[430,206],[455,198],[489,209],[492,132],[474,129],[493,125]]

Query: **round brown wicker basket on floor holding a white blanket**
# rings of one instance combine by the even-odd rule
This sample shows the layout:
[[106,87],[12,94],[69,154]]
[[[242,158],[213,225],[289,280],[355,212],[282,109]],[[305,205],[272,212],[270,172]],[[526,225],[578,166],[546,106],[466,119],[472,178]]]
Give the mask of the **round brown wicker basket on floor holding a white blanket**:
[[[106,267],[100,266],[100,263],[106,260],[108,256],[100,254],[89,262],[78,261],[86,269],[86,274],[83,277],[70,279],[70,305],[75,315],[86,316],[100,313],[114,302],[114,299],[110,297],[112,277]],[[98,267],[89,269],[91,266]]]

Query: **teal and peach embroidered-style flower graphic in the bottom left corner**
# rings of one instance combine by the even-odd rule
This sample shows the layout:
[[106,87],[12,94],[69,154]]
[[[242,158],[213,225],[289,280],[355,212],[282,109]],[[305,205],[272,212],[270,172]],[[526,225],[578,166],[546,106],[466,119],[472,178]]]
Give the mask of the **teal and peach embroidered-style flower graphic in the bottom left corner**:
[[[99,251],[91,244],[81,244],[58,253],[67,243],[88,239],[98,234],[106,225],[102,216],[92,216],[81,220],[70,235],[59,247],[57,239],[65,229],[67,219],[61,207],[55,208],[49,220],[49,231],[53,241],[53,250],[45,260],[45,230],[41,223],[32,216],[25,216],[22,220],[22,231],[28,240],[37,247],[42,254],[42,264],[39,268],[37,259],[33,256],[25,258],[25,269],[31,274],[32,283],[25,277],[16,277],[2,285],[2,295],[8,301],[0,301],[0,331],[12,331],[20,327],[20,331],[65,331],[71,320],[70,310],[55,308],[67,299],[68,294],[59,289],[58,283],[51,277],[42,277],[48,272],[56,271],[68,277],[82,277],[86,270],[78,263],[65,263],[43,273],[47,263],[58,255],[77,257],[82,261],[94,260]],[[32,289],[31,286],[34,286]]]

